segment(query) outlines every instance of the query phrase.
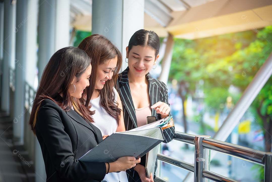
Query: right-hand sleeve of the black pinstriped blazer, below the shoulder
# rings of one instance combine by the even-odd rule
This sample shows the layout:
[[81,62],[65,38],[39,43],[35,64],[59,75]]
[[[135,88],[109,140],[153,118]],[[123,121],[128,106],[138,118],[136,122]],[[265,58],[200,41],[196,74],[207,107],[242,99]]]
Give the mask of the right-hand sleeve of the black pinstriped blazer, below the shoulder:
[[[170,104],[168,102],[168,89],[167,89],[165,83],[163,83],[163,87],[164,88],[163,88],[163,92],[162,92],[162,95],[163,95],[162,96],[162,102],[165,102],[166,104],[168,104],[170,106]],[[171,116],[170,113],[169,113],[169,116]],[[165,138],[163,143],[168,143],[168,142],[172,141],[172,139],[174,138],[175,126],[170,127],[170,128],[166,128],[162,132],[163,132],[163,136]]]

